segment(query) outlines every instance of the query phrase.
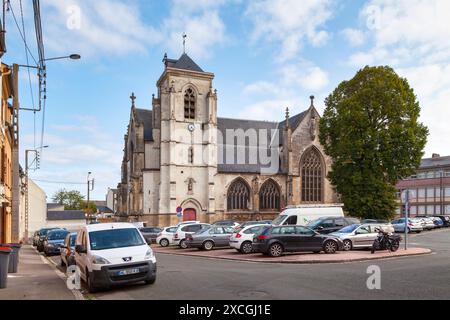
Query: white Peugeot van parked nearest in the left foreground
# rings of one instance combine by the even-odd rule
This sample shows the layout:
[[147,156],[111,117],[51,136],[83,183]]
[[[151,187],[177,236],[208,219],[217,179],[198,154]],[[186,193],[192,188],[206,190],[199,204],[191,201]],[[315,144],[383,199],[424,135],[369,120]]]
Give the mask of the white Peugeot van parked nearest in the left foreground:
[[84,226],[77,235],[75,261],[89,292],[115,285],[156,281],[156,257],[131,223]]

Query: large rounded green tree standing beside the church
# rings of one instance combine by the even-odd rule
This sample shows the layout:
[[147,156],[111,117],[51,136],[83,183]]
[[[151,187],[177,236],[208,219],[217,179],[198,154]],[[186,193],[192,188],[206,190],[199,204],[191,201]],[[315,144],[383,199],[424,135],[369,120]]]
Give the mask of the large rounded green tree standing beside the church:
[[353,216],[395,214],[395,184],[420,165],[428,129],[408,81],[390,67],[365,67],[326,98],[320,142],[329,179]]

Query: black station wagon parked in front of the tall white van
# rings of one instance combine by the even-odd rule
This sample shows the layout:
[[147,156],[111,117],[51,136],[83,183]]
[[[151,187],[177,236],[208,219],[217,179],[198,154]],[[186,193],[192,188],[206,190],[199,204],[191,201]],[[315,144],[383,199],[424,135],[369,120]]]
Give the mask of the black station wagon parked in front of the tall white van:
[[283,252],[336,253],[342,250],[343,243],[335,236],[323,235],[304,226],[270,226],[254,235],[252,248],[254,252],[279,257]]

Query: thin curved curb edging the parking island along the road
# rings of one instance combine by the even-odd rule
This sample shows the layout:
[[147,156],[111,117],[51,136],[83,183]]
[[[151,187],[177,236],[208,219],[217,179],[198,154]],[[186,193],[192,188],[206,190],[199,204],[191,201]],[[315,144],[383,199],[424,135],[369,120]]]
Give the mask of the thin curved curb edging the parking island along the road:
[[170,252],[156,252],[161,254],[173,255],[173,256],[187,256],[194,258],[204,258],[204,259],[212,259],[212,260],[228,260],[235,262],[247,262],[247,263],[267,263],[267,264],[342,264],[342,263],[352,263],[352,262],[364,262],[364,261],[372,261],[372,260],[390,260],[390,259],[400,259],[414,256],[423,256],[433,254],[431,249],[427,249],[427,252],[418,252],[418,253],[410,253],[407,255],[398,255],[398,256],[384,256],[384,257],[375,257],[375,258],[355,258],[355,259],[343,259],[343,260],[309,260],[309,261],[270,261],[270,260],[247,260],[247,259],[234,259],[227,257],[209,257],[209,256],[200,256],[200,255],[189,255],[189,254],[176,254]]

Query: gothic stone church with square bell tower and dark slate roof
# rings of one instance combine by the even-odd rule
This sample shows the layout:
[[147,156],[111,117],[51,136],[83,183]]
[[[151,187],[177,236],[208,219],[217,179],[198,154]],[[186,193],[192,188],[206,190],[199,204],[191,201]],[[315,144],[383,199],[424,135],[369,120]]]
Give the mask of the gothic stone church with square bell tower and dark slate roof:
[[169,225],[178,206],[185,220],[269,219],[286,205],[336,202],[313,97],[283,122],[220,118],[214,74],[186,54],[164,65],[152,110],[131,97],[117,188],[124,219]]

